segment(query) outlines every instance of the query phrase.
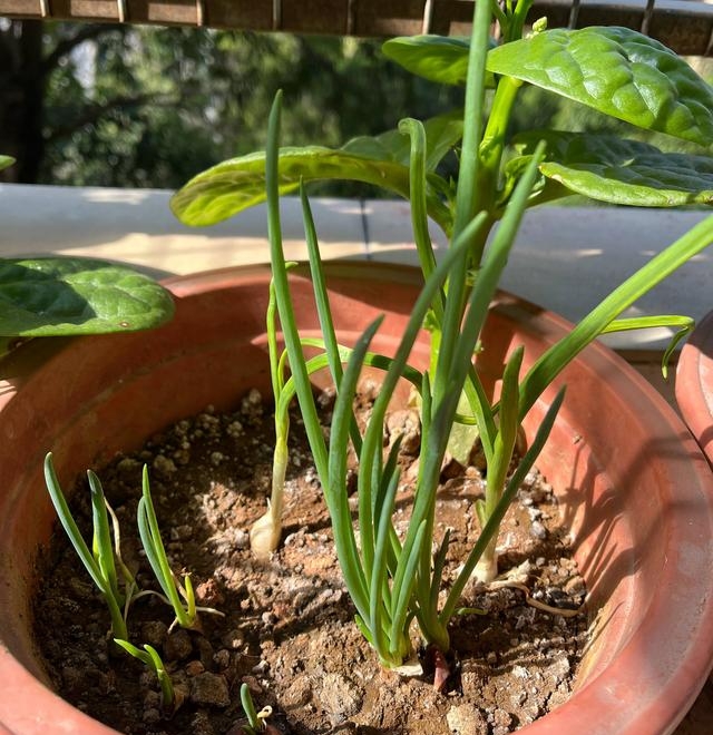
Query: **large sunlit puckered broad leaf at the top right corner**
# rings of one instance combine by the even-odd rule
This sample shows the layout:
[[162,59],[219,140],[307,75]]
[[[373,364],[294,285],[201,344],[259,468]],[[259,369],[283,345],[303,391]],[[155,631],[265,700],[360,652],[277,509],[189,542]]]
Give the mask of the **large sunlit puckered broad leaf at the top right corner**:
[[488,69],[605,115],[702,146],[713,140],[713,90],[673,51],[627,28],[553,29],[506,43]]

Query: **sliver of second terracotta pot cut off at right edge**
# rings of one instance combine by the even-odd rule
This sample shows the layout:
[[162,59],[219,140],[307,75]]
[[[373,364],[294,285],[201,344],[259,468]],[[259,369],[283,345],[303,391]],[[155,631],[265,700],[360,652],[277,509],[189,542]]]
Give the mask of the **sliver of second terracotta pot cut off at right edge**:
[[713,312],[701,321],[681,351],[676,402],[713,465]]

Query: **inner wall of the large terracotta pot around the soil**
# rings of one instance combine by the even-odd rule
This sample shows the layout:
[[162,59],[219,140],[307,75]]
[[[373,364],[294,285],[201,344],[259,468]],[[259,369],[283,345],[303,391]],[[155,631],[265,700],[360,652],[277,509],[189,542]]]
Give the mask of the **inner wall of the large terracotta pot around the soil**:
[[[364,293],[363,278],[374,273],[365,270],[360,277],[355,271],[354,276],[350,268],[349,277],[339,267],[331,272],[340,335],[353,341],[385,310],[375,346],[392,352],[403,317],[410,314],[418,278],[409,271],[385,270],[383,281],[370,281]],[[207,404],[228,408],[253,386],[267,392],[268,275],[262,272],[262,277],[240,286],[228,286],[226,278],[215,274],[207,291],[205,280],[199,290],[191,281],[174,284],[179,296],[176,317],[155,332],[30,343],[3,364],[10,380],[0,389],[0,538],[9,551],[0,556],[0,637],[12,657],[38,677],[43,675],[30,631],[32,566],[55,522],[42,479],[45,453],[55,453],[60,480],[69,487],[86,468],[100,467],[119,450],[137,448],[152,433]],[[306,281],[295,280],[295,294],[300,323],[319,330]],[[557,320],[543,320],[534,307],[508,298],[501,302],[488,324],[479,359],[486,382],[491,383],[514,345],[525,344],[526,362],[531,362],[563,329]],[[419,366],[427,364],[426,344],[413,357]],[[598,610],[597,638],[580,688],[626,648],[651,612],[653,590],[666,566],[677,564],[670,556],[663,558],[663,545],[633,551],[637,540],[660,532],[662,507],[674,501],[670,470],[658,461],[667,448],[656,444],[656,433],[654,445],[647,445],[652,440],[641,433],[660,416],[635,415],[616,398],[615,389],[624,380],[617,367],[609,353],[595,350],[585,363],[566,371],[563,379],[569,390],[561,421],[539,462],[559,492],[563,519],[572,525],[577,559]],[[623,388],[625,394],[646,390],[628,378]],[[550,399],[551,394],[545,395],[545,401]],[[545,410],[545,403],[538,403],[530,412],[525,424],[530,437]],[[664,429],[661,442],[671,435]],[[651,491],[635,494],[633,488],[642,482]],[[673,606],[678,602],[672,600]]]

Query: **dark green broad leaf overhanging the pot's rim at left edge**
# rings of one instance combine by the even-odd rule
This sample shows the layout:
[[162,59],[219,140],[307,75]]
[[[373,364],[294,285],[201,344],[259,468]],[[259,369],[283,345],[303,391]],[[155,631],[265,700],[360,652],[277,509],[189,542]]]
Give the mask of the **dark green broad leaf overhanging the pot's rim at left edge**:
[[135,332],[167,322],[170,294],[128,267],[85,258],[0,259],[0,334]]

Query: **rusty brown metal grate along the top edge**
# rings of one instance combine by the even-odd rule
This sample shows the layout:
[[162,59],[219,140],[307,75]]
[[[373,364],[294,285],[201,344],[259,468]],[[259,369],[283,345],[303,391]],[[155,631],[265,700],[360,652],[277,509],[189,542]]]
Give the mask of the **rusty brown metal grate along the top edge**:
[[[57,20],[208,26],[297,33],[466,35],[472,0],[0,0],[0,16]],[[626,26],[682,55],[713,50],[713,4],[705,0],[535,0],[550,27]]]

